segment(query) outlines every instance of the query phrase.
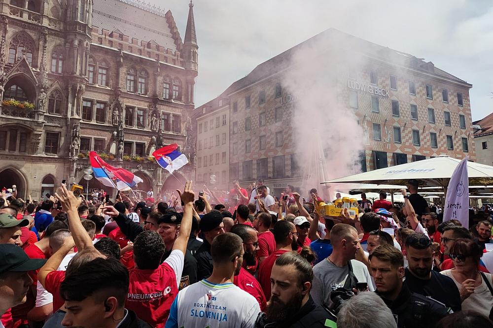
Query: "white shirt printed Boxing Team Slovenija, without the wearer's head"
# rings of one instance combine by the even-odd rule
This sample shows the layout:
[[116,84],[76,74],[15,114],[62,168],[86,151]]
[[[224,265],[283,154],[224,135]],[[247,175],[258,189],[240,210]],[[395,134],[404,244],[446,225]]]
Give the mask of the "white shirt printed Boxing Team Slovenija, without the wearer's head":
[[260,306],[232,283],[201,280],[182,289],[170,309],[166,328],[254,328]]

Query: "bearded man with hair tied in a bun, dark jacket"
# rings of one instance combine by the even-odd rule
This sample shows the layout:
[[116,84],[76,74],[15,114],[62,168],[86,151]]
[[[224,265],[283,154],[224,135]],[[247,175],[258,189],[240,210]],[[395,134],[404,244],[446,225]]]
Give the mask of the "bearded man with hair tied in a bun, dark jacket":
[[258,315],[256,328],[335,327],[331,320],[335,318],[310,295],[314,259],[315,253],[309,247],[300,254],[287,252],[277,258],[271,273],[272,296],[265,313]]

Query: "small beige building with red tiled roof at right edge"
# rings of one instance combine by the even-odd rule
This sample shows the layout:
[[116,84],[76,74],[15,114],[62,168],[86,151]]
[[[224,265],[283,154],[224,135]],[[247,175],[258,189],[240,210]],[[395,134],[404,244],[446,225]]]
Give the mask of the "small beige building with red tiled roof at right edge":
[[493,113],[472,122],[478,163],[493,165]]

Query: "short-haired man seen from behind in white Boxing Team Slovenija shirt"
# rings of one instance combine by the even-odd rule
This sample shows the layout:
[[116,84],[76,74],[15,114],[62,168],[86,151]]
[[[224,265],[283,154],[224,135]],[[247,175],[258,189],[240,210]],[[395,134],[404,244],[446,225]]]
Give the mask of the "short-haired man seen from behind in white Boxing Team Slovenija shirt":
[[214,263],[211,276],[178,293],[166,328],[254,327],[260,312],[258,302],[233,284],[244,254],[243,240],[238,235],[230,232],[217,235],[211,244]]

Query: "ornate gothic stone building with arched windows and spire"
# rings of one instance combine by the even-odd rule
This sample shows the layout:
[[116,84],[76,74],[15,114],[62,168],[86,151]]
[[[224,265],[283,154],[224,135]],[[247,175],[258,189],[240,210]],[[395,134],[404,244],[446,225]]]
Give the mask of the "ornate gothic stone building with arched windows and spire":
[[140,176],[144,191],[191,176],[193,163],[172,177],[149,160],[172,143],[194,157],[191,2],[183,40],[171,11],[139,1],[1,0],[0,8],[1,187],[35,199],[63,179],[86,188],[91,150]]

